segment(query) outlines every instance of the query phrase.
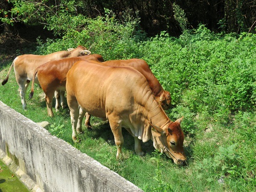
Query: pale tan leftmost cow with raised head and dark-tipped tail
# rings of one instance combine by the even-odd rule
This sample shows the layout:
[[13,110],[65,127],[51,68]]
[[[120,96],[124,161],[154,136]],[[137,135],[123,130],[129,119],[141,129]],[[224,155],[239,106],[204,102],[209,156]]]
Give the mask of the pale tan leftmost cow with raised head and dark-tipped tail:
[[[26,109],[26,90],[29,82],[32,81],[34,71],[41,64],[48,61],[53,61],[61,58],[77,57],[81,55],[90,54],[85,47],[79,45],[76,49],[70,48],[67,51],[54,52],[49,55],[20,55],[17,56],[9,69],[6,79],[2,82],[2,85],[6,84],[9,79],[9,73],[14,66],[15,77],[17,84],[19,85],[19,92],[23,109]],[[35,80],[38,83],[37,79]]]

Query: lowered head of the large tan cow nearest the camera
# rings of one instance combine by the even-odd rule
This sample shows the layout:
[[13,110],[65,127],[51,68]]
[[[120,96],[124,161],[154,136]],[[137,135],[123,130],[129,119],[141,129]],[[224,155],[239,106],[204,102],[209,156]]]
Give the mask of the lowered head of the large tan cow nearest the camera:
[[174,160],[174,163],[182,165],[186,160],[183,148],[184,134],[180,128],[180,122],[183,119],[177,119],[166,128],[162,129],[150,123],[152,127],[152,136],[154,148],[160,152],[164,152],[168,157]]

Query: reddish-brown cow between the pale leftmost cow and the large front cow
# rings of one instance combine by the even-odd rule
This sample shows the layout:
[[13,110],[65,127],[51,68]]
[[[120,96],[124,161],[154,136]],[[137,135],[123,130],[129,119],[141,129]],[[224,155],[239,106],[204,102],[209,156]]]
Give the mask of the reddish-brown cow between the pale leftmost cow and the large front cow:
[[[32,98],[34,94],[34,82],[37,75],[39,84],[42,90],[45,93],[45,101],[47,104],[47,113],[49,116],[54,116],[52,112],[52,99],[55,94],[56,99],[56,111],[59,108],[59,101],[58,101],[58,94],[61,94],[61,105],[63,106],[64,100],[64,91],[66,90],[66,78],[67,72],[73,66],[76,61],[80,61],[83,59],[87,60],[94,60],[103,62],[103,58],[101,55],[92,54],[92,55],[84,55],[80,57],[73,57],[73,58],[64,58],[55,61],[49,61],[45,64],[40,65],[34,72],[33,79],[32,79],[32,87],[31,93],[29,95],[29,99]],[[58,91],[55,91],[58,90]],[[60,91],[62,93],[59,93]]]

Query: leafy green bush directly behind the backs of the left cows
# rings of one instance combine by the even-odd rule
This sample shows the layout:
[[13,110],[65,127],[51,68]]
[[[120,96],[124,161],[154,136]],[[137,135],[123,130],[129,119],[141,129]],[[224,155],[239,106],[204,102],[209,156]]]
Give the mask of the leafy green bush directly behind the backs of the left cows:
[[[98,53],[105,60],[136,57],[137,42],[134,40],[135,29],[139,23],[137,17],[124,14],[120,23],[110,10],[105,10],[105,16],[95,19],[81,17],[84,25],[81,30],[69,29],[61,39],[50,40],[46,43],[38,40],[38,52],[48,54],[60,49],[84,45],[93,53]],[[79,20],[79,19],[78,19]],[[67,23],[72,21],[67,21]]]

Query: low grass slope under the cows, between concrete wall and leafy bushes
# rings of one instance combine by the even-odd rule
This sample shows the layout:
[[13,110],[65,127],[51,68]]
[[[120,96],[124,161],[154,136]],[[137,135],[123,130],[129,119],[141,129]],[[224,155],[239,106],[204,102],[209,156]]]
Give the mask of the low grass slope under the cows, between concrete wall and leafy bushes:
[[[195,54],[197,53],[195,52]],[[214,57],[213,54],[209,54],[209,56]],[[179,63],[184,58],[180,58]],[[205,59],[203,54],[201,54],[201,59]],[[149,60],[147,61],[149,64],[151,63]],[[164,62],[160,59],[159,64]],[[0,63],[1,80],[5,78],[11,63],[12,61]],[[145,191],[253,191],[256,187],[255,112],[240,111],[233,115],[229,114],[229,119],[232,120],[224,121],[226,116],[223,116],[221,111],[212,115],[207,110],[198,110],[198,108],[204,108],[204,105],[200,102],[196,103],[196,106],[191,104],[193,97],[200,98],[200,95],[197,95],[201,93],[198,91],[198,87],[195,90],[192,90],[191,87],[183,90],[180,93],[181,97],[175,95],[174,90],[177,90],[177,87],[168,87],[169,84],[175,83],[175,80],[170,79],[168,74],[159,71],[160,67],[151,66],[167,90],[172,88],[173,98],[176,100],[174,102],[180,99],[184,103],[183,106],[176,105],[168,113],[172,120],[175,120],[177,115],[184,113],[185,119],[187,118],[181,125],[187,131],[185,148],[188,166],[178,167],[165,155],[152,153],[154,152],[152,142],[143,143],[146,155],[142,158],[138,157],[134,154],[134,139],[125,130],[123,130],[125,160],[116,161],[116,146],[110,127],[106,122],[100,122],[97,118],[93,118],[93,131],[85,130],[85,134],[81,136],[81,143],[73,143],[68,109],[55,113],[54,118],[47,117],[44,96],[39,88],[35,89],[33,99],[27,102],[28,110],[22,110],[13,70],[9,82],[5,86],[0,86],[0,100],[35,122],[49,121],[51,124],[64,125],[61,135],[56,132],[52,134],[59,135],[71,145]],[[168,83],[166,79],[172,83],[170,81]],[[212,90],[209,89],[210,91]],[[28,96],[29,90],[26,98]],[[209,103],[205,105],[207,104]],[[192,113],[193,108],[198,112]],[[191,126],[190,129],[189,126]],[[220,178],[223,178],[224,183],[218,183]]]

